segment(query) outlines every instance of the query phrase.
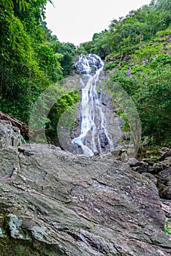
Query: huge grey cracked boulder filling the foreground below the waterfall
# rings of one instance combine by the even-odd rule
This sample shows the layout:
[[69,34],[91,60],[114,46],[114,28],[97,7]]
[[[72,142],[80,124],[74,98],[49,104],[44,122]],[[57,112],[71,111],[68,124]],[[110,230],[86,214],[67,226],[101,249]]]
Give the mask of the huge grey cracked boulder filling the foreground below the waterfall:
[[24,144],[0,163],[2,256],[170,255],[156,186],[113,154]]

